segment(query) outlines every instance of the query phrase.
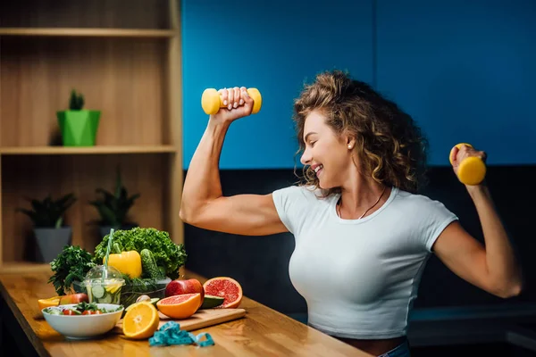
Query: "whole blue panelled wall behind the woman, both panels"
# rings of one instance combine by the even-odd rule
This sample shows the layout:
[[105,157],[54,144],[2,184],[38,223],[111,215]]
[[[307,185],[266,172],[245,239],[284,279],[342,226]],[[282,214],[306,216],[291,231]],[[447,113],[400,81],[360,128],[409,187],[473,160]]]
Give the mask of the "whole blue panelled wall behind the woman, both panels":
[[[467,141],[490,164],[536,162],[536,2],[182,2],[184,167],[206,87],[258,87],[263,109],[231,126],[222,169],[295,165],[292,101],[319,71],[348,70],[398,102],[431,141],[431,164]],[[305,5],[306,4],[306,5]]]

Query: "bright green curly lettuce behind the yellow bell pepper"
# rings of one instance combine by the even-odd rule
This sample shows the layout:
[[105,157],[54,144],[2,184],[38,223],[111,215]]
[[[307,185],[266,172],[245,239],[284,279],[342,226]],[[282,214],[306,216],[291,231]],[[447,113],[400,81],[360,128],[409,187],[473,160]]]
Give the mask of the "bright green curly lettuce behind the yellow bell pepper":
[[[96,245],[94,262],[102,264],[106,255],[106,247],[110,235],[106,235],[102,242]],[[165,269],[169,278],[179,278],[179,268],[188,258],[184,245],[173,243],[168,232],[155,228],[119,229],[113,232],[113,243],[118,243],[122,251],[137,251],[148,249],[155,256],[156,265]]]

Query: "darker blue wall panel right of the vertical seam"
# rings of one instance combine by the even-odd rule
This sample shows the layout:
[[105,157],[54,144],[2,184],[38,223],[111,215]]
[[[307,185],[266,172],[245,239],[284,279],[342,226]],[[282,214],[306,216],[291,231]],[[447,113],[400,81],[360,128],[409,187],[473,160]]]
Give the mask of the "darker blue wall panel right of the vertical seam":
[[536,1],[377,4],[377,87],[421,124],[431,163],[458,142],[535,163]]

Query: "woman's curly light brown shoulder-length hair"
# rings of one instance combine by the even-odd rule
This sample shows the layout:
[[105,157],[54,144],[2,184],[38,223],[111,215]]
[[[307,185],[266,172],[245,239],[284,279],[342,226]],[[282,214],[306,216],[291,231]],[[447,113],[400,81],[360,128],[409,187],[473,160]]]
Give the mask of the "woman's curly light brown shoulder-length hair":
[[[319,110],[337,135],[356,137],[362,173],[376,182],[416,193],[423,184],[428,141],[421,129],[398,105],[368,84],[351,79],[347,72],[326,71],[306,85],[294,102],[297,154],[303,153],[304,126],[309,113]],[[303,172],[302,185],[319,187],[310,166]],[[328,190],[326,195],[338,192]]]

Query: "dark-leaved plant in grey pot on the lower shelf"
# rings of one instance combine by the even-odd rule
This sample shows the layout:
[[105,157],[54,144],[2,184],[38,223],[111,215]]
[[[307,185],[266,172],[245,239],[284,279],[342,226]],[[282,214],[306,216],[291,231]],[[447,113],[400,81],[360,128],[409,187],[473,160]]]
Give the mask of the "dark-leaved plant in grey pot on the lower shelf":
[[76,202],[73,194],[53,200],[47,195],[44,200],[28,199],[31,209],[17,211],[29,216],[38,242],[38,255],[44,262],[52,262],[62,252],[64,245],[71,245],[72,228],[64,224],[63,215]]

